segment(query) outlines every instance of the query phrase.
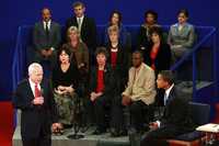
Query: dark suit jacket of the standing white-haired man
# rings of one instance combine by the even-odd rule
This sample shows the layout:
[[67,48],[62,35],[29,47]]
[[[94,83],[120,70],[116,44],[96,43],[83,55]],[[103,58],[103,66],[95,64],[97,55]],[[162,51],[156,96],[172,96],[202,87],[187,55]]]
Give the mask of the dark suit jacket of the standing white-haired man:
[[44,97],[43,105],[34,105],[32,103],[34,94],[27,79],[18,85],[15,96],[12,99],[14,108],[21,109],[22,111],[22,138],[37,138],[41,136],[42,131],[43,133],[50,134],[51,123],[56,123],[58,121],[50,83],[43,80],[41,88]]

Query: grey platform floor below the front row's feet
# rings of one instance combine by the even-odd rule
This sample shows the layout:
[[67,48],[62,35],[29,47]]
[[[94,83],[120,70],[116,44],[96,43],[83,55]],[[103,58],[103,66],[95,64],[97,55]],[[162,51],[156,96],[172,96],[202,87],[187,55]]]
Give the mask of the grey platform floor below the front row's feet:
[[[20,126],[16,127],[12,146],[22,146],[21,142],[21,132]],[[110,133],[105,133],[102,135],[92,135],[93,127],[89,128],[85,133],[80,133],[84,135],[84,138],[81,139],[69,139],[67,136],[72,134],[72,131],[66,130],[64,135],[61,136],[51,136],[51,145],[53,146],[128,146],[129,141],[128,136],[124,137],[111,137]]]

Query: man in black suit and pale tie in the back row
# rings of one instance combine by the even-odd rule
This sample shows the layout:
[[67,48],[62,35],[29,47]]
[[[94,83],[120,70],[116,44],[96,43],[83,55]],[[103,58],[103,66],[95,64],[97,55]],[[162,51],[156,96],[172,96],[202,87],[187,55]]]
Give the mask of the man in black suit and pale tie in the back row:
[[85,5],[77,1],[73,3],[74,16],[69,18],[66,22],[66,32],[70,26],[77,26],[81,40],[87,44],[90,55],[93,57],[94,49],[96,47],[96,24],[93,19],[84,15]]

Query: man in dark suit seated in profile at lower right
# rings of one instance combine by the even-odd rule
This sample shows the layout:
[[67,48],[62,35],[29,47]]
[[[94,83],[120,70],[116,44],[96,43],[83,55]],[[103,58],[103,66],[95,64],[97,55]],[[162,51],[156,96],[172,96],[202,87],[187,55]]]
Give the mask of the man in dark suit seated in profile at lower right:
[[160,121],[150,124],[151,131],[141,141],[141,146],[169,146],[165,139],[194,131],[188,100],[174,85],[173,74],[161,71],[157,86],[165,90],[162,97],[164,113]]

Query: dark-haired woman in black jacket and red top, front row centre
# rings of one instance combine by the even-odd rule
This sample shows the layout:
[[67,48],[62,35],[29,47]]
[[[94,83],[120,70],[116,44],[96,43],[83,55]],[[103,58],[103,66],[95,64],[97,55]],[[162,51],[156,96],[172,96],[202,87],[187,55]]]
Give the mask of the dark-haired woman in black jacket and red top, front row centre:
[[106,64],[107,52],[105,47],[96,48],[96,66],[91,69],[90,78],[90,102],[88,103],[90,116],[94,109],[96,130],[93,134],[102,134],[106,131],[105,113],[106,106],[111,105],[114,97],[114,76],[110,65]]

